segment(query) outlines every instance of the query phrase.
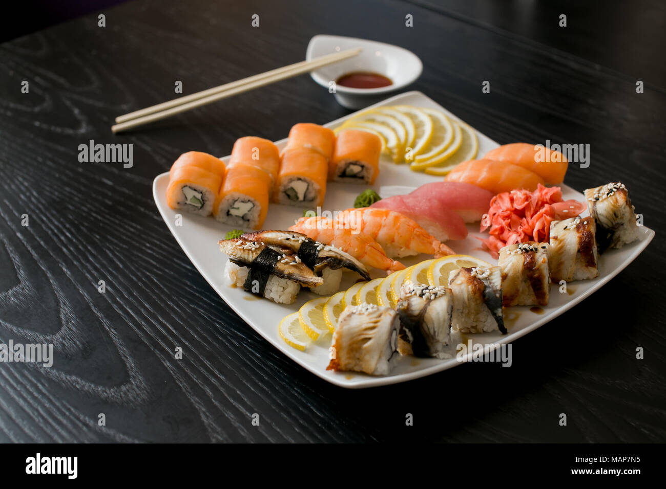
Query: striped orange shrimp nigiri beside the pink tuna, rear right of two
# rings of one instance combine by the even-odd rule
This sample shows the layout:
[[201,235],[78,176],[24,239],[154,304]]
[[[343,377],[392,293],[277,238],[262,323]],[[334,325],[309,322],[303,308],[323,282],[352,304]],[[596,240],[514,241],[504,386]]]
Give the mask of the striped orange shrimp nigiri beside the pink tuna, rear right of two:
[[350,227],[355,232],[372,238],[392,257],[418,253],[440,257],[455,253],[416,221],[394,210],[370,207],[347,209],[338,213],[336,221],[338,225]]

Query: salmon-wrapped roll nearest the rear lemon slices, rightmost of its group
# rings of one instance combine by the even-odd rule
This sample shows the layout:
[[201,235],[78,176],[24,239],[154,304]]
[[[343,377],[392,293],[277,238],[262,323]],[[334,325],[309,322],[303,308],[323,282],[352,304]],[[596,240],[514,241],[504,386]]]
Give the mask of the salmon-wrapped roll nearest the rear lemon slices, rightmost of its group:
[[372,132],[345,130],[338,134],[328,180],[353,184],[374,184],[379,174],[382,141]]

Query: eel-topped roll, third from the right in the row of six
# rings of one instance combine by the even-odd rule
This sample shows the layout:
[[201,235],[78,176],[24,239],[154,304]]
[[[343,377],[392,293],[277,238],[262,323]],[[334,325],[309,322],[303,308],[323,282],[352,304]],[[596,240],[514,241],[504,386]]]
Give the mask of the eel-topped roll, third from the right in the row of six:
[[502,303],[547,305],[550,291],[548,244],[519,243],[500,249]]

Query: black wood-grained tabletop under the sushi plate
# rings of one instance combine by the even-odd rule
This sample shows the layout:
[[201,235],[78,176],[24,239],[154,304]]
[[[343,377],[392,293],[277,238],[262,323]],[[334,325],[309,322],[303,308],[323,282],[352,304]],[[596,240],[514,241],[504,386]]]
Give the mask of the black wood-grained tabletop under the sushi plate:
[[[137,0],[104,11],[106,27],[90,15],[1,45],[0,342],[53,343],[55,361],[0,364],[0,442],[666,441],[665,5],[543,4]],[[308,373],[197,273],[151,184],[186,150],[228,154],[239,136],[277,140],[347,111],[302,76],[141,131],[109,128],[172,98],[176,81],[188,94],[300,61],[318,33],[414,51],[424,73],[410,88],[499,142],[590,144],[591,165],[572,165],[567,184],[622,180],[657,237],[515,342],[510,369],[468,364],[366,391]],[[79,162],[89,140],[134,144],[133,168]]]

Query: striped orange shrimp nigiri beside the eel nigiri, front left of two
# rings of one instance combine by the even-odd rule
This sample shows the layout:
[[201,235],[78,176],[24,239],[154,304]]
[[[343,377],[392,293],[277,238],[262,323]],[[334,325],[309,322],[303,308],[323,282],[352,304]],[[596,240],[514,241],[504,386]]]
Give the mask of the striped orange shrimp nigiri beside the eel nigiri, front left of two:
[[364,265],[380,270],[396,271],[405,265],[386,256],[384,249],[372,238],[364,234],[353,234],[350,228],[344,228],[328,218],[300,218],[290,231],[302,233],[308,238],[326,243],[349,253]]

